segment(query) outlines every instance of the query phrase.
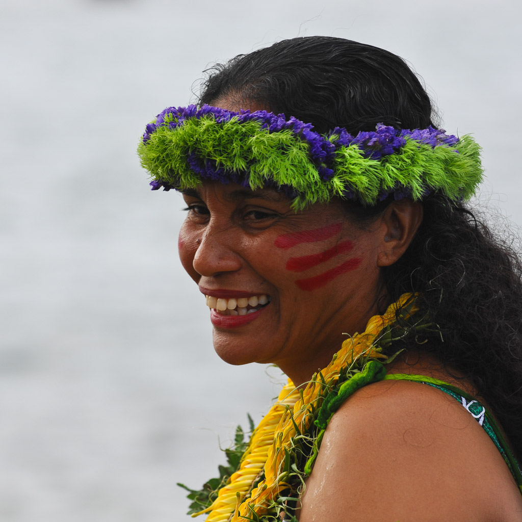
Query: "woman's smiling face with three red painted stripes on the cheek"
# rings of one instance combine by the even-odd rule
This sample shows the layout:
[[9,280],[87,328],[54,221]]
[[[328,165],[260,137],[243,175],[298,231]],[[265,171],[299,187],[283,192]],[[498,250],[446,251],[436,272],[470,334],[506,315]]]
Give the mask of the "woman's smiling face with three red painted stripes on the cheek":
[[338,200],[295,212],[273,189],[235,184],[206,182],[184,199],[180,258],[209,296],[223,360],[275,363],[301,383],[377,313],[378,220],[362,231]]

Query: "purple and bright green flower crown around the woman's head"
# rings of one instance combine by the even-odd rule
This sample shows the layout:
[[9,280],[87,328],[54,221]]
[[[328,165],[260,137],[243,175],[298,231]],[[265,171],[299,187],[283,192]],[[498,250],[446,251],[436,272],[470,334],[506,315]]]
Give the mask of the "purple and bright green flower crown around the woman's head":
[[395,129],[352,136],[345,128],[318,134],[310,123],[267,111],[204,105],[169,107],[138,145],[153,190],[195,188],[204,180],[273,187],[294,207],[334,196],[375,205],[390,194],[421,200],[433,192],[467,199],[482,180],[480,147],[443,129]]

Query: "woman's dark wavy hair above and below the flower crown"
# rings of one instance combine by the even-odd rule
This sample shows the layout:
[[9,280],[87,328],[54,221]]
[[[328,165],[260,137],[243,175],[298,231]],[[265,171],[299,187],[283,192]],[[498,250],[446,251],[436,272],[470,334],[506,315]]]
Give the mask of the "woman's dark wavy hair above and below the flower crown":
[[[283,40],[216,65],[200,103],[224,97],[295,116],[321,133],[336,126],[357,134],[377,123],[409,129],[438,123],[419,78],[400,57],[340,38]],[[346,209],[364,227],[388,203],[350,201]],[[421,309],[438,326],[422,349],[471,379],[522,456],[520,259],[465,204],[433,194],[423,207],[408,250],[384,270],[389,295],[420,293]]]

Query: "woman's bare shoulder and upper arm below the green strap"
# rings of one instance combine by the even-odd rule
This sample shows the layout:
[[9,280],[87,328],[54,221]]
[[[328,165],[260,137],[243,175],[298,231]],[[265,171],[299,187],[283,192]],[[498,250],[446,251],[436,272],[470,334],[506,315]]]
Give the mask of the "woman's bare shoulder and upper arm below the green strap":
[[522,521],[522,496],[487,433],[431,386],[383,381],[335,413],[302,496],[312,520]]

